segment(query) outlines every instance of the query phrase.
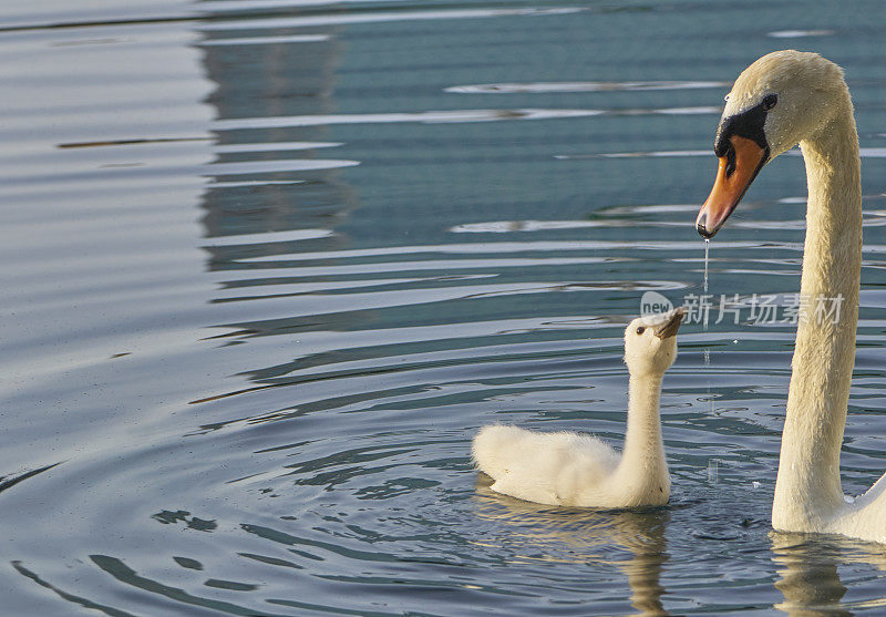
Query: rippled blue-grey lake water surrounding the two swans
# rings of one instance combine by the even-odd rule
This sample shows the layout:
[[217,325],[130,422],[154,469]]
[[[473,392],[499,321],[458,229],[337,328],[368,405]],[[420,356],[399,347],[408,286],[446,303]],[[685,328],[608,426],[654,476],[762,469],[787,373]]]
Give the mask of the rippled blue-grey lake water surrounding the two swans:
[[[873,0],[4,3],[3,610],[883,614],[886,548],[771,532],[790,321],[682,328],[667,507],[495,495],[470,441],[620,444],[624,323],[702,290],[723,95],[795,48],[856,104],[869,486],[885,37]],[[711,244],[717,304],[797,291],[793,154]]]

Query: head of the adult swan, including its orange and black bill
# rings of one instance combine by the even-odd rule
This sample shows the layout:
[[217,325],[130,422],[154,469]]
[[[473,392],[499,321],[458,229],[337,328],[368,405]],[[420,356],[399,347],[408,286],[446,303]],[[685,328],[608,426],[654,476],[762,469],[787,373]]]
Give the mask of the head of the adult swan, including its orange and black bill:
[[748,66],[727,95],[717,128],[713,188],[696,219],[712,238],[763,165],[808,138],[852,103],[843,69],[817,53],[775,51]]

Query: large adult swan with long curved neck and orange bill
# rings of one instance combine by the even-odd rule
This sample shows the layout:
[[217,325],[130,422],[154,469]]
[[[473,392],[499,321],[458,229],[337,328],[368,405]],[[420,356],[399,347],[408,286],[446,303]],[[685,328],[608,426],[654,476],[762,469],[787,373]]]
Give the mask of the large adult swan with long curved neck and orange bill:
[[717,178],[696,226],[705,238],[717,234],[760,168],[797,143],[808,184],[801,298],[843,302],[838,320],[797,326],[772,526],[886,543],[886,476],[853,503],[839,483],[862,269],[858,135],[839,66],[815,53],[777,51],[739,75],[717,132]]

